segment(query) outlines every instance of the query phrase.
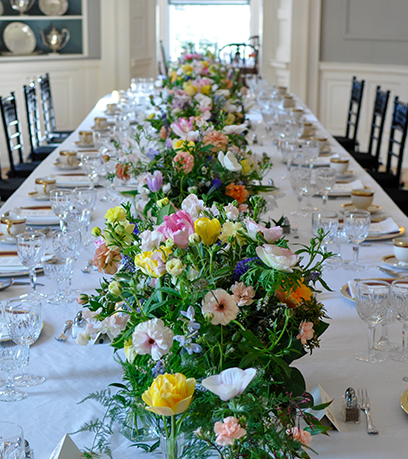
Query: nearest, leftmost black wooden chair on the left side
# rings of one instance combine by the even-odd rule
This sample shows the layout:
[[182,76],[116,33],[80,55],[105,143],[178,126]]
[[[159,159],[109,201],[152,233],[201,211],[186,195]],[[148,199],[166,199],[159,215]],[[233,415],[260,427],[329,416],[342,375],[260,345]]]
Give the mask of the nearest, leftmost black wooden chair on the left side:
[[7,172],[7,175],[10,178],[26,178],[40,162],[24,162],[23,135],[20,128],[14,92],[11,92],[9,97],[0,97],[0,109],[10,161],[10,170]]

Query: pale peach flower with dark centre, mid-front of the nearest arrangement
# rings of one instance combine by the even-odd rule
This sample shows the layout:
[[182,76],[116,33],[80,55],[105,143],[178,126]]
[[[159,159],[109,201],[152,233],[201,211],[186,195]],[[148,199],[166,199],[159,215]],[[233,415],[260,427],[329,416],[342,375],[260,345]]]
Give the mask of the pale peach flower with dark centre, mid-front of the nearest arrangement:
[[213,325],[228,325],[239,312],[234,298],[221,288],[208,292],[201,304],[202,313],[212,315]]

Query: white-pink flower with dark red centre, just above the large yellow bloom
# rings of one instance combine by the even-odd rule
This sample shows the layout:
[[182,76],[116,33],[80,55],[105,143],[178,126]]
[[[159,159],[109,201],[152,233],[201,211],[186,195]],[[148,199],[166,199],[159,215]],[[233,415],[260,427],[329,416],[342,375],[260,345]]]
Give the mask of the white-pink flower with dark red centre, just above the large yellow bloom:
[[173,338],[173,331],[161,319],[151,319],[136,326],[132,344],[136,354],[150,354],[153,360],[159,360],[169,352]]

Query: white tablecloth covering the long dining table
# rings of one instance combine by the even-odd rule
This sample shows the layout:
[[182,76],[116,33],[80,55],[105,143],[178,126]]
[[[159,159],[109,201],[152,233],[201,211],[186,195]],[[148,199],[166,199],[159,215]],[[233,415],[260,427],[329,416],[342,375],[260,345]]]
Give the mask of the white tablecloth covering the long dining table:
[[[1,212],[4,213],[16,207],[38,204],[28,196],[35,189],[35,179],[61,173],[53,164],[61,149],[76,150],[78,132],[89,130],[94,124],[94,118],[106,116],[104,110],[110,102],[110,96],[102,98],[83,120],[73,134],[59,146],[41,165],[31,174],[16,193],[4,204]],[[349,156],[335,140],[326,132],[318,119],[307,107],[298,101],[305,109],[305,119],[314,123],[320,136],[329,138],[331,152],[341,156]],[[259,112],[253,111],[252,126],[257,131],[258,138],[263,129]],[[262,131],[263,132],[263,131]],[[252,138],[253,131],[250,133]],[[290,180],[285,164],[272,143],[251,146],[257,154],[266,153],[273,162],[270,178],[273,178],[278,190],[268,195],[268,215],[274,219],[288,216],[291,223],[297,224],[297,234],[288,235],[291,247],[296,244],[308,243],[312,235],[311,217],[299,217],[296,221],[290,211],[296,209],[297,199],[291,189]],[[355,178],[360,179],[364,186],[374,190],[374,204],[381,207],[376,214],[391,216],[400,226],[408,228],[408,218],[393,203],[381,187],[350,157],[351,171],[355,171]],[[104,190],[98,188],[101,196]],[[118,197],[117,204],[120,203]],[[350,202],[350,196],[329,199],[327,208],[339,212],[342,204]],[[313,197],[313,205],[321,208],[321,198]],[[47,204],[39,203],[39,204]],[[92,215],[91,226],[103,227],[104,214],[112,203],[99,201]],[[51,238],[48,236],[48,246],[51,247]],[[0,251],[13,250],[15,247],[0,245]],[[103,277],[97,271],[85,274],[81,271],[89,258],[93,257],[93,247],[83,249],[73,276],[73,286],[84,293],[92,293],[99,286]],[[408,388],[403,380],[408,376],[408,365],[388,358],[379,364],[368,364],[355,359],[354,354],[367,348],[367,324],[363,322],[352,300],[341,293],[341,288],[354,278],[382,278],[386,277],[377,268],[383,265],[382,258],[393,253],[392,240],[385,239],[371,242],[360,247],[360,262],[368,267],[363,272],[347,271],[344,267],[325,272],[325,280],[331,291],[322,291],[319,300],[324,303],[330,326],[321,337],[321,346],[315,349],[312,355],[306,355],[295,361],[307,383],[307,389],[312,390],[319,384],[333,401],[333,410],[340,432],[332,430],[329,436],[318,435],[313,438],[312,447],[320,457],[328,458],[395,458],[405,457],[408,450],[407,414],[400,407],[401,394]],[[352,245],[342,244],[341,255],[345,259],[352,258]],[[39,277],[43,287],[39,291],[45,294],[55,292],[55,283]],[[27,293],[28,287],[13,286],[1,292],[1,300],[16,298]],[[58,336],[67,319],[73,319],[80,310],[76,302],[68,306],[55,306],[44,302],[44,329],[38,341],[31,348],[30,371],[45,376],[43,384],[28,388],[27,399],[0,404],[0,419],[18,423],[22,426],[26,439],[34,449],[37,459],[49,458],[53,449],[66,433],[76,432],[81,426],[92,419],[101,418],[104,408],[97,402],[88,400],[79,404],[91,392],[101,391],[110,383],[121,381],[121,366],[113,359],[113,349],[108,344],[93,346],[79,346],[72,338],[65,343],[58,342]],[[393,341],[401,341],[401,324],[395,322],[389,326],[389,336]],[[0,373],[0,377],[4,377]],[[362,414],[360,424],[344,423],[341,407],[342,396],[348,387],[367,388],[374,422],[379,430],[378,435],[367,434],[367,424]],[[143,458],[160,457],[160,453],[145,454],[140,449],[129,448],[130,442],[125,439],[119,427],[115,427],[115,434],[111,438],[111,449],[114,458]],[[81,432],[72,435],[72,439],[79,448],[90,447],[93,434]]]

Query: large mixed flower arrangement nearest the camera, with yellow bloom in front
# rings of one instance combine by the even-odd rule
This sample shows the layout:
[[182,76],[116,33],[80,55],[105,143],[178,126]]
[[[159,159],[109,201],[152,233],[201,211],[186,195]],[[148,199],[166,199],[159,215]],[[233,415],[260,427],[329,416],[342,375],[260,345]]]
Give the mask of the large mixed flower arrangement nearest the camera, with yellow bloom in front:
[[191,194],[180,209],[156,203],[149,218],[125,204],[93,230],[94,264],[112,277],[80,297],[78,342],[111,338],[123,366],[115,406],[147,451],[138,435],[149,413],[172,459],[308,457],[326,431],[292,366],[328,326],[314,293],[325,287],[323,237],[294,252],[279,222],[260,221],[263,199],[249,200],[251,211],[210,208]]

